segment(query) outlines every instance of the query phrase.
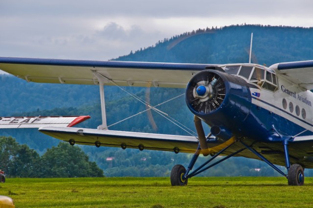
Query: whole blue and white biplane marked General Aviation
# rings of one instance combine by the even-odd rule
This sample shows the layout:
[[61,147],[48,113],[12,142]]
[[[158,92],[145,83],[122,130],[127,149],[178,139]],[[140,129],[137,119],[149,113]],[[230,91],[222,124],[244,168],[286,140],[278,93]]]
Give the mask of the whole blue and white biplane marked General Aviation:
[[[0,69],[27,82],[99,85],[102,124],[97,129],[43,124],[39,131],[71,145],[194,153],[187,169],[173,167],[172,185],[186,185],[232,156],[267,162],[289,185],[303,185],[304,168],[313,168],[313,61],[265,67],[0,57]],[[147,84],[186,88],[198,137],[108,130],[104,85]],[[210,126],[208,136],[202,122]],[[212,157],[192,170],[200,154]]]

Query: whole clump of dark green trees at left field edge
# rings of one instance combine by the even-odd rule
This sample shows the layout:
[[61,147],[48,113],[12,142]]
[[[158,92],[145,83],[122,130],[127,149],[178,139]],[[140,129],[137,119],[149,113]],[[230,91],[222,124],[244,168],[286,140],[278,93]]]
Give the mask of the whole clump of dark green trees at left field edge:
[[60,142],[40,157],[12,137],[0,137],[0,169],[9,177],[104,177],[95,162],[79,148]]

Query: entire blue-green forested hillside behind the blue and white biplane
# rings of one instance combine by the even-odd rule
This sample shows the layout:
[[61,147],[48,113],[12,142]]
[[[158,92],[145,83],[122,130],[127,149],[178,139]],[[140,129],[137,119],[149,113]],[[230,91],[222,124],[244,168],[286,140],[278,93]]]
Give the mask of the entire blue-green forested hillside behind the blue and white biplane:
[[[272,27],[262,25],[236,25],[223,28],[206,28],[186,32],[140,48],[115,60],[182,62],[182,63],[247,63],[250,36],[253,32],[252,62],[270,66],[274,63],[313,60],[313,28]],[[127,87],[127,91],[146,99],[146,89]],[[157,105],[183,89],[151,88],[150,102]],[[144,111],[145,106],[117,87],[105,87],[108,124]],[[27,83],[9,75],[0,76],[0,116],[70,116],[90,115],[83,127],[96,128],[101,123],[98,86]],[[185,126],[194,129],[193,115],[187,110],[184,96],[158,107]],[[162,116],[152,114],[153,128],[147,114],[110,127],[112,130],[154,132],[163,134],[187,134]],[[21,144],[27,144],[41,155],[47,148],[56,146],[57,139],[47,137],[37,130],[0,130],[0,136],[12,136]],[[187,165],[189,155],[172,152],[122,150],[84,146],[89,158],[105,171],[107,176],[168,176],[176,163]],[[107,162],[112,158],[112,162]],[[233,160],[241,160],[236,169]],[[237,161],[238,162],[238,161]],[[234,166],[229,173],[225,169]],[[231,159],[208,175],[275,175],[258,161]],[[261,168],[256,173],[255,168]]]

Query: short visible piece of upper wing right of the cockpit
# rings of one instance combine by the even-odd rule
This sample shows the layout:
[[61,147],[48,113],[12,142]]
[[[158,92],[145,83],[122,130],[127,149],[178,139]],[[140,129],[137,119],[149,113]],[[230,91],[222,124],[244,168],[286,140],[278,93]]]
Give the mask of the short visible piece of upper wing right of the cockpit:
[[270,68],[296,85],[307,90],[313,89],[313,60],[279,63]]

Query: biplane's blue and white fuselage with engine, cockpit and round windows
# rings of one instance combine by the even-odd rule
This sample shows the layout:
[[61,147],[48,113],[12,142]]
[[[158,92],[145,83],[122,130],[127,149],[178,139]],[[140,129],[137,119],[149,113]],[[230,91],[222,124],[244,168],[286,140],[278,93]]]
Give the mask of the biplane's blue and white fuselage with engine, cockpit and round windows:
[[313,135],[312,92],[264,66],[238,64],[220,68],[224,72],[199,72],[186,90],[189,109],[211,126],[213,135],[224,140],[236,136],[260,141],[294,136],[308,139]]

